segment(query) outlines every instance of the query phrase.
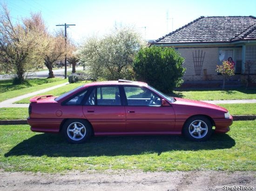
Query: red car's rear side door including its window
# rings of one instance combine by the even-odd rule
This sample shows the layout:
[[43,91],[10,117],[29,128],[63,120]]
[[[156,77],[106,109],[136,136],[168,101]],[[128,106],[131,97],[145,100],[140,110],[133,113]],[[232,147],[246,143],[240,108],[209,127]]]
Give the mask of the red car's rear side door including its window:
[[120,134],[125,131],[125,110],[118,86],[97,86],[91,90],[83,113],[95,135]]

